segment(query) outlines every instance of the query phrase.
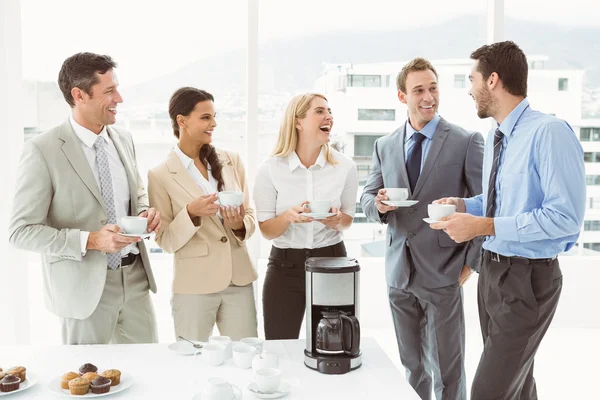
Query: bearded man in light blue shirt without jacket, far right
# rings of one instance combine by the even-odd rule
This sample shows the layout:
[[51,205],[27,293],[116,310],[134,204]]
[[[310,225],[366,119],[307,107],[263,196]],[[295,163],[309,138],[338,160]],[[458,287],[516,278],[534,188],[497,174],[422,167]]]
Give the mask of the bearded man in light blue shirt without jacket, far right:
[[478,304],[484,350],[472,400],[537,399],[533,359],[560,297],[557,255],[575,245],[585,212],[583,149],[569,124],[532,110],[527,59],[513,42],[482,46],[469,79],[486,141],[483,194],[443,198],[457,213],[432,224],[461,243],[486,236]]

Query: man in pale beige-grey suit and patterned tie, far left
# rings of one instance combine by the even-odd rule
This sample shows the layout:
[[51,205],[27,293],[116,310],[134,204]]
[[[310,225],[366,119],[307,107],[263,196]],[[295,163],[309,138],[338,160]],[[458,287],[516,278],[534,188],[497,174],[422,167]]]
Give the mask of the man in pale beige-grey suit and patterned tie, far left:
[[65,344],[157,342],[143,241],[120,234],[119,218],[160,215],[148,207],[131,135],[112,127],[122,103],[109,57],[78,53],[59,86],[72,109],[60,126],[25,143],[10,242],[42,255],[47,308]]

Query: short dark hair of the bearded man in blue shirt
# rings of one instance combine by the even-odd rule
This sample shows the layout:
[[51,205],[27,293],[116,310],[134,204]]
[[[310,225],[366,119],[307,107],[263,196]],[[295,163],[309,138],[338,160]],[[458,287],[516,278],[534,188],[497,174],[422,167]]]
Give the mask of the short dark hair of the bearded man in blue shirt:
[[495,72],[508,93],[527,97],[527,57],[515,42],[486,44],[472,52],[471,59],[479,61],[477,71],[483,79]]

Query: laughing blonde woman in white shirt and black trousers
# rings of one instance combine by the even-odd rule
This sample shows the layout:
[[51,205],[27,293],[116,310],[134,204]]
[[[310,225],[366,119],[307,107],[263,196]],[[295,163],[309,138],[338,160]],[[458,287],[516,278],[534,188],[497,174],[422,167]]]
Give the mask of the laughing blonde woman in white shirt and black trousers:
[[[267,339],[297,339],[304,317],[309,257],[345,257],[341,231],[352,224],[358,178],[349,157],[329,146],[333,116],[325,96],[307,93],[288,104],[277,146],[258,170],[254,202],[260,230],[273,241],[263,314]],[[330,202],[330,217],[306,214],[309,201]]]

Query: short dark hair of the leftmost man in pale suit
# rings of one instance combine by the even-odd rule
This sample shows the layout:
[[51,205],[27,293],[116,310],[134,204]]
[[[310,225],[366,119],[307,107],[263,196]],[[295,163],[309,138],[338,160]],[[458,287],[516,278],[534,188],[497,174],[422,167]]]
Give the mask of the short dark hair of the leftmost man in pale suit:
[[110,56],[94,53],[77,53],[67,58],[58,73],[58,87],[71,107],[75,100],[71,94],[78,87],[90,96],[92,86],[99,82],[96,74],[104,75],[106,71],[116,68],[117,63]]

